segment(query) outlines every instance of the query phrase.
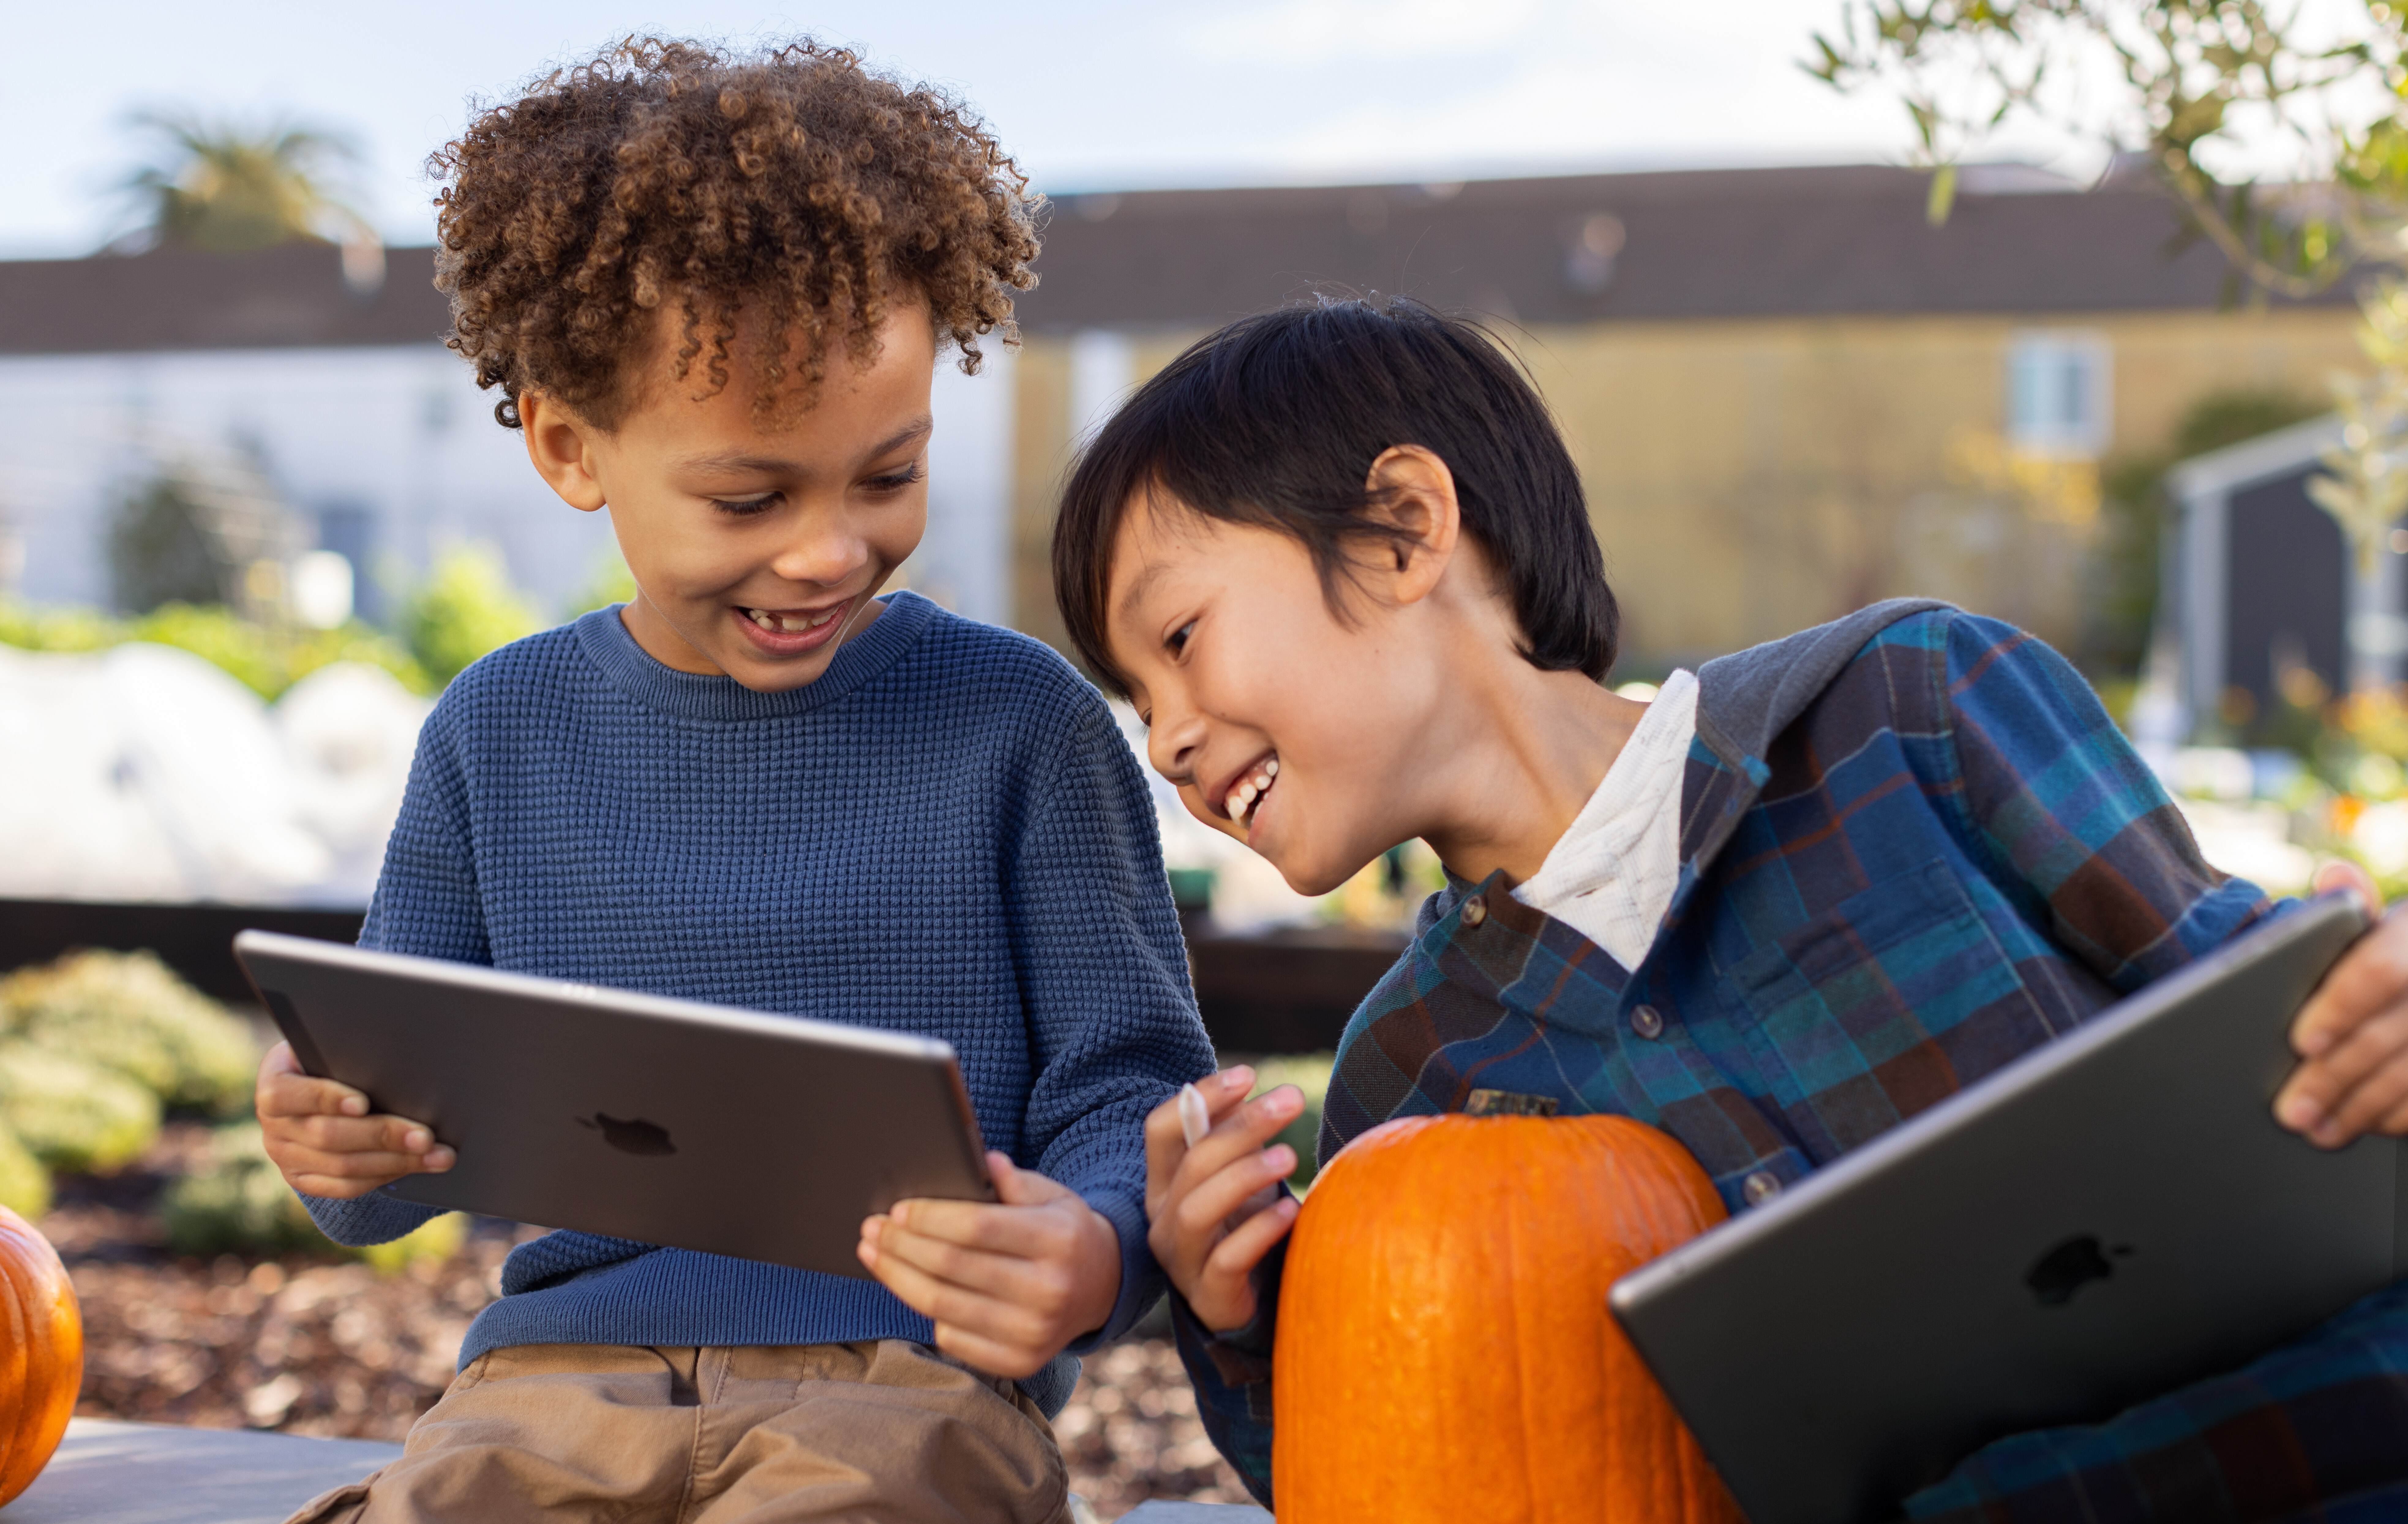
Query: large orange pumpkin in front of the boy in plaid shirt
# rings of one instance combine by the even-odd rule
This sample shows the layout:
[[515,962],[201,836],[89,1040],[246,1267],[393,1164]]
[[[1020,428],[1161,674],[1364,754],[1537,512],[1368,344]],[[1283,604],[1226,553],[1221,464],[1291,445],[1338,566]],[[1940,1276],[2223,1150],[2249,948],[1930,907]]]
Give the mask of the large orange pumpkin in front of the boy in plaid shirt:
[[1722,1221],[1628,1117],[1406,1117],[1296,1221],[1271,1355],[1279,1524],[1741,1524],[1606,1310]]

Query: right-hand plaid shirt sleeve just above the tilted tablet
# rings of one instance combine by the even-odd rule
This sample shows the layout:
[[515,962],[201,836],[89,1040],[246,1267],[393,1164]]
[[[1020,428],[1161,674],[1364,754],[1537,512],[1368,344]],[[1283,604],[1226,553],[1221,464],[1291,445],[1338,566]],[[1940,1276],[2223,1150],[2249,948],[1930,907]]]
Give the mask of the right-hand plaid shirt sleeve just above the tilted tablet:
[[2158,775],[2061,655],[1996,619],[1946,619],[1953,799],[2030,925],[2131,994],[2268,912],[2256,884],[2208,867]]

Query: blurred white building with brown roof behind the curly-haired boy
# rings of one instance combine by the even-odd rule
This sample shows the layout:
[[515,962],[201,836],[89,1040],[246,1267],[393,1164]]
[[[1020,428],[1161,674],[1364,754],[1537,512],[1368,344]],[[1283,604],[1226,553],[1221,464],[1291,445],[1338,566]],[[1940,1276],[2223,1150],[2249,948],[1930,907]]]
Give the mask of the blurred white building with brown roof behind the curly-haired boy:
[[[118,506],[173,477],[265,482],[289,549],[344,556],[371,619],[460,542],[496,544],[539,604],[576,612],[609,525],[537,479],[448,327],[429,248],[366,267],[306,243],[0,262],[0,592],[106,607]],[[929,544],[908,568],[997,621],[1009,373],[939,371]]]

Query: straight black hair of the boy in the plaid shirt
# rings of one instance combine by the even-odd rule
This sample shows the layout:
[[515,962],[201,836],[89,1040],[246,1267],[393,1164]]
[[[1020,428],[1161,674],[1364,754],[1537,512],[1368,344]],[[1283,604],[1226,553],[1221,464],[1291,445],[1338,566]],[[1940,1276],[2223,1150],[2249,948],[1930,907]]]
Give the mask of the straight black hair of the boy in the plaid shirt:
[[1096,431],[1052,547],[1055,599],[1088,669],[1127,693],[1105,616],[1112,542],[1139,494],[1296,537],[1344,619],[1353,542],[1401,537],[1365,513],[1365,477],[1392,445],[1421,445],[1454,472],[1464,532],[1512,597],[1522,655],[1604,679],[1621,612],[1546,402],[1481,325],[1401,296],[1324,296],[1240,318]]

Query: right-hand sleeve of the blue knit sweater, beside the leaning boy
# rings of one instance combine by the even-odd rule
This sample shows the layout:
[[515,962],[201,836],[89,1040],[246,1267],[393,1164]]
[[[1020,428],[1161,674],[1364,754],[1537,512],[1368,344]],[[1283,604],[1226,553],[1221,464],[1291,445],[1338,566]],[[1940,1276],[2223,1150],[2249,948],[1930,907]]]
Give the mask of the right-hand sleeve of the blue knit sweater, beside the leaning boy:
[[[1146,1247],[1146,1112],[1214,1069],[1153,799],[1093,693],[1021,823],[1007,893],[1035,1074],[1026,1146],[1120,1233],[1120,1300],[1072,1343],[1125,1334],[1163,1293]],[[1028,1163],[1028,1160],[1021,1160]]]

